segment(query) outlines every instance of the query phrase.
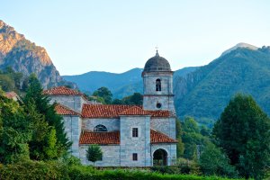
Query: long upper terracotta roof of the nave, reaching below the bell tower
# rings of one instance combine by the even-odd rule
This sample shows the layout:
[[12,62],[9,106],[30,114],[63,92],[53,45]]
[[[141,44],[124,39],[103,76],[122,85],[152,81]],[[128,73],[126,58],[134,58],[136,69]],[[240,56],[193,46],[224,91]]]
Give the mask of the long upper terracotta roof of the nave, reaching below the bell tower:
[[118,118],[119,115],[151,115],[152,117],[169,117],[169,111],[146,111],[138,105],[84,104],[84,118]]

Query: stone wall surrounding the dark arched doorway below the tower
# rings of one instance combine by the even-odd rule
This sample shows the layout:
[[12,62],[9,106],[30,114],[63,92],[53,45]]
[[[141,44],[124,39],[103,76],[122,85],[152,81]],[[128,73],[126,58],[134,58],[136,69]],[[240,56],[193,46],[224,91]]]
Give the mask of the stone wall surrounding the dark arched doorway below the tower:
[[167,153],[167,166],[173,166],[176,163],[176,144],[152,144],[151,145],[151,166],[153,166],[153,157],[157,149],[164,149]]

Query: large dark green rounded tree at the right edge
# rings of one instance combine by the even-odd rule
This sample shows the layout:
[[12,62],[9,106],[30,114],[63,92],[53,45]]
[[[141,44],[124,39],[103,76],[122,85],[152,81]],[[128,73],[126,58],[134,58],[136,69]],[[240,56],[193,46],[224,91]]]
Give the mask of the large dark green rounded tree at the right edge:
[[240,175],[264,177],[270,165],[270,120],[250,95],[237,94],[229,101],[213,135]]

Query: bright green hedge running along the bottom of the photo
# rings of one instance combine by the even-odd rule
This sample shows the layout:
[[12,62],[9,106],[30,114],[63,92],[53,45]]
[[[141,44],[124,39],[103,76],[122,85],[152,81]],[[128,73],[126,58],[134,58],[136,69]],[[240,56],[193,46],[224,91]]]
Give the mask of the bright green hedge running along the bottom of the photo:
[[22,162],[14,165],[0,166],[0,179],[69,179],[69,180],[225,180],[217,176],[167,175],[143,170],[115,169],[96,170],[91,166],[67,166],[58,162]]

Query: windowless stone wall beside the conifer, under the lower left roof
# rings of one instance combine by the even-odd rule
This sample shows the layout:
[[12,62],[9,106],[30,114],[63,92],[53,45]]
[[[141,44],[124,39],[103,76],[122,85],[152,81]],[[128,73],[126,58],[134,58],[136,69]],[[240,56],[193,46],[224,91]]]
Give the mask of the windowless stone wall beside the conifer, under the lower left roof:
[[72,141],[71,153],[79,157],[79,139],[81,134],[82,121],[79,116],[64,115],[64,126],[67,132],[67,138]]

